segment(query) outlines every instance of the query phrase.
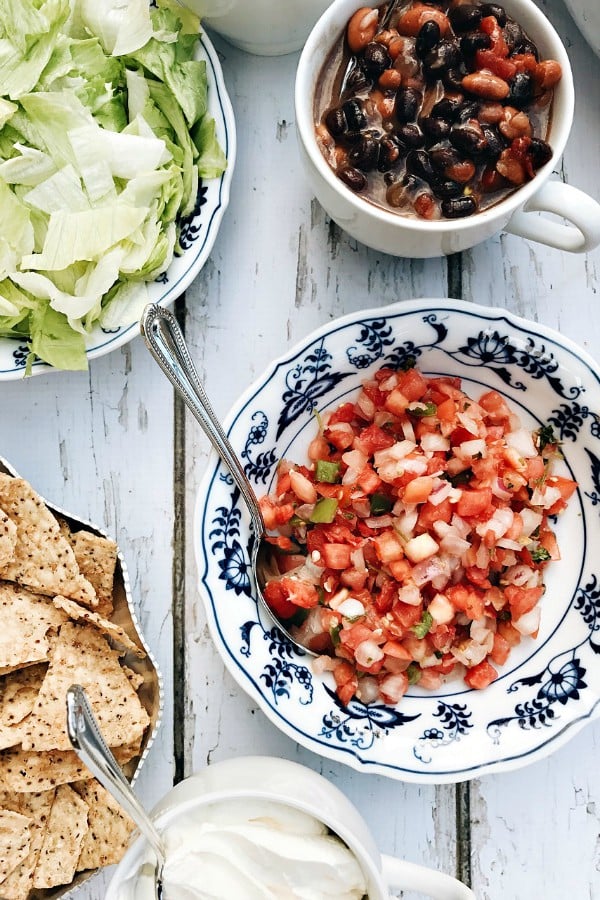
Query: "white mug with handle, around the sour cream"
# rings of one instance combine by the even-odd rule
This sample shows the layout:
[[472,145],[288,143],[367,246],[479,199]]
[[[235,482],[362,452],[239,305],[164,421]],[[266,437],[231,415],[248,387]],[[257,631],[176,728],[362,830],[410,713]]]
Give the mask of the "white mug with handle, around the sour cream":
[[[298,763],[267,756],[248,756],[214,763],[185,779],[152,811],[159,831],[203,806],[220,801],[263,799],[300,810],[323,822],[356,857],[367,881],[369,900],[389,900],[389,891],[420,891],[434,900],[475,900],[473,892],[450,875],[380,854],[366,822],[347,797],[329,781]],[[150,858],[138,838],[117,866],[106,900],[123,900]],[[146,866],[147,879],[147,866]],[[199,873],[201,878],[202,873]],[[144,877],[144,876],[142,876]],[[126,888],[123,886],[126,885]],[[152,900],[152,884],[149,885]],[[146,893],[136,892],[136,900]]]

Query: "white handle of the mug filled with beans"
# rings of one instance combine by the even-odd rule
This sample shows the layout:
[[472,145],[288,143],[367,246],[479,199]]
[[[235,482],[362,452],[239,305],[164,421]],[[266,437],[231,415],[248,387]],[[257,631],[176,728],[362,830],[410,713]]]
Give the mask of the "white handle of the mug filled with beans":
[[[569,224],[535,215],[555,213]],[[570,253],[586,253],[600,244],[600,203],[563,181],[547,181],[504,228],[511,234]]]

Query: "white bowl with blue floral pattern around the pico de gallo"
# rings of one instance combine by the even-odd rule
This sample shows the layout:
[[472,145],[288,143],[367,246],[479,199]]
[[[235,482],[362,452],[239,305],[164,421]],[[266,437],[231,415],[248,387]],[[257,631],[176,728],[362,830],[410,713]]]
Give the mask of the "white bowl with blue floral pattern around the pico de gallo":
[[439,784],[539,760],[600,711],[600,367],[557,332],[503,309],[410,300],[353,313],[272,363],[229,414],[256,493],[272,490],[280,459],[306,460],[316,411],[408,357],[427,375],[460,376],[472,396],[499,391],[526,427],[552,425],[564,454],[557,472],[578,482],[556,522],[562,559],[546,569],[538,637],[512,650],[495,682],[482,691],[462,680],[431,692],[414,686],[396,707],[345,706],[331,676],[314,674],[257,605],[249,516],[218,461],[199,491],[194,541],[214,642],[273,724],[361,771]]

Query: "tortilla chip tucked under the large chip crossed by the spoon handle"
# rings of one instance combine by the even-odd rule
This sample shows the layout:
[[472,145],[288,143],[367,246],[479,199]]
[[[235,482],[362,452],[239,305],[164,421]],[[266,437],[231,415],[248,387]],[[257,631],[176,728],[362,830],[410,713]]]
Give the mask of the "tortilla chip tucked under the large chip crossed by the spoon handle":
[[[124,766],[140,754],[140,743],[113,747],[117,762]],[[23,750],[11,747],[0,752],[0,788],[22,794],[48,791],[60,784],[90,778],[91,774],[74,750]],[[0,894],[0,898],[2,895]]]

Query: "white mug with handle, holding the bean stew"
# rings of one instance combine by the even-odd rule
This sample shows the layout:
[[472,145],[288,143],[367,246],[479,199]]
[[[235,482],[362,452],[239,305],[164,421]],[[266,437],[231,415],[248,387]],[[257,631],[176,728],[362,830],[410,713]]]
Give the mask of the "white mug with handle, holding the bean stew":
[[[529,34],[543,59],[556,59],[563,76],[554,90],[548,142],[552,158],[528,183],[494,206],[464,219],[427,221],[402,216],[357,196],[334,174],[315,136],[317,79],[348,20],[364,0],[334,0],[321,16],[300,56],[296,74],[296,130],[309,184],[321,206],[352,237],[394,256],[444,256],[467,250],[498,231],[582,253],[600,244],[600,204],[571,185],[549,181],[563,153],[574,110],[573,75],[558,34],[532,0],[503,0],[502,5]],[[375,4],[372,4],[375,5]],[[569,224],[539,216],[555,213]]]

